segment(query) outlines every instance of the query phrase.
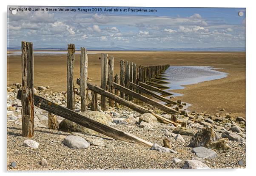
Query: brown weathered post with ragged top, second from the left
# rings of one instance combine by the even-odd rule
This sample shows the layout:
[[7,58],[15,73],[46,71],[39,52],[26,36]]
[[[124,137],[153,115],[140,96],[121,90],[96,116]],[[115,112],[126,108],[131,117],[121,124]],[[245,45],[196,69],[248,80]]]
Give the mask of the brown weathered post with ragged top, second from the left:
[[67,108],[74,110],[75,94],[74,94],[74,60],[75,60],[75,45],[68,44],[68,59],[67,59]]

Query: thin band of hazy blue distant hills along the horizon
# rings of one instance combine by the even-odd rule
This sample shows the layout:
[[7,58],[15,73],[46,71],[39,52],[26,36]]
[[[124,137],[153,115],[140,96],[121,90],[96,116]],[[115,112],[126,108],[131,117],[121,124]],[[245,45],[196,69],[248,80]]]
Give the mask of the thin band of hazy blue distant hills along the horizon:
[[[20,50],[20,47],[7,47],[7,50]],[[67,50],[67,48],[34,48],[34,50]],[[77,49],[77,50],[80,50]],[[212,47],[212,48],[136,48],[136,47],[87,47],[96,51],[245,51],[245,47]]]

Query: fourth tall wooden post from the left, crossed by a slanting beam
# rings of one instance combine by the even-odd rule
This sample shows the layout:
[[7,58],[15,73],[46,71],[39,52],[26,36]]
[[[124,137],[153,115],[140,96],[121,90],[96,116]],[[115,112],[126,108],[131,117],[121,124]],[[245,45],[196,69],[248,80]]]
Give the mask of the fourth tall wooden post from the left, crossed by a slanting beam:
[[[101,88],[107,90],[107,80],[108,80],[108,55],[102,54],[101,57]],[[101,110],[105,111],[107,109],[106,97],[101,96]]]

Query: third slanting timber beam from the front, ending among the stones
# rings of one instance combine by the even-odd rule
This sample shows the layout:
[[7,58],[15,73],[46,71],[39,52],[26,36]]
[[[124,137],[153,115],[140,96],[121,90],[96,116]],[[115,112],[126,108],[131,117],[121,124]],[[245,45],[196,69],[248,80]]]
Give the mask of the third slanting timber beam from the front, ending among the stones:
[[131,91],[130,89],[125,88],[122,85],[118,85],[118,84],[114,83],[114,88],[116,88],[117,90],[122,91],[122,92],[124,92],[124,93],[126,93],[128,95],[131,95],[134,98],[141,100],[142,102],[145,102],[145,103],[150,104],[150,105],[152,105],[154,107],[157,107],[158,109],[163,110],[163,111],[165,111],[167,113],[171,113],[171,114],[179,113],[180,114],[179,111],[173,110],[170,107],[165,106],[164,104],[161,104],[161,103],[156,102],[156,101],[154,101],[152,99],[149,99],[146,96],[143,96],[143,95],[141,95],[139,93]]

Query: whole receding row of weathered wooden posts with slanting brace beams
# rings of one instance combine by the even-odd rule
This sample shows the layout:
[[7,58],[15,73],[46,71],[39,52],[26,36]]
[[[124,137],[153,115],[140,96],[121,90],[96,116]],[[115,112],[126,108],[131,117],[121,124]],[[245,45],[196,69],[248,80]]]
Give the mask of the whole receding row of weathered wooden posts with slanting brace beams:
[[[140,143],[150,146],[151,143],[142,140],[134,135],[113,129],[110,126],[100,124],[97,121],[91,120],[88,117],[82,116],[74,112],[74,44],[68,44],[67,54],[67,108],[54,104],[40,96],[34,95],[34,55],[33,44],[31,42],[22,41],[22,90],[18,92],[17,98],[22,102],[22,132],[24,137],[32,137],[34,135],[34,105],[43,110],[48,111],[49,128],[57,129],[57,119],[55,115],[60,115],[63,118],[76,122],[82,126],[93,129],[104,135],[113,137],[117,140],[124,140],[127,142]],[[180,113],[164,104],[156,102],[146,96],[141,95],[145,93],[149,96],[160,99],[168,104],[176,104],[176,102],[166,99],[164,96],[158,95],[155,92],[162,94],[171,93],[163,91],[146,83],[151,82],[157,76],[161,75],[169,65],[164,66],[136,66],[136,63],[121,60],[120,61],[120,77],[118,74],[114,76],[114,57],[107,54],[102,54],[101,57],[101,88],[87,82],[88,77],[88,56],[87,50],[81,47],[80,54],[80,85],[81,96],[81,111],[88,110],[88,89],[91,90],[92,102],[91,110],[97,111],[97,94],[101,95],[101,109],[107,110],[106,97],[111,107],[119,107],[119,104],[127,106],[139,113],[151,113],[158,121],[163,123],[172,123],[175,126],[176,121],[163,118],[160,115],[152,113],[151,111],[134,104],[131,100],[133,98],[139,99],[147,104],[151,104],[167,113]],[[120,81],[119,81],[120,80]],[[153,80],[154,81],[154,80]],[[119,83],[120,82],[120,83]],[[35,99],[35,102],[34,102]],[[71,117],[72,116],[72,117]]]

